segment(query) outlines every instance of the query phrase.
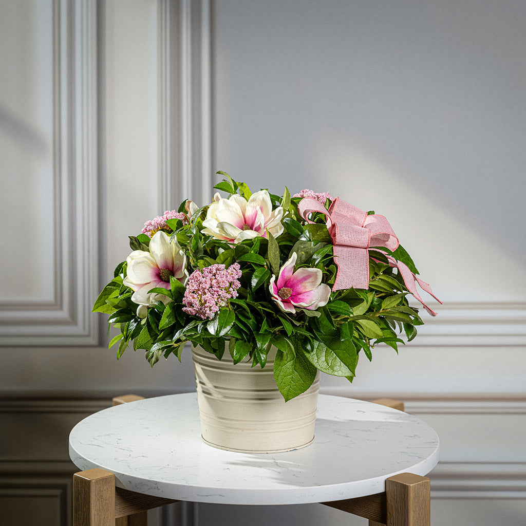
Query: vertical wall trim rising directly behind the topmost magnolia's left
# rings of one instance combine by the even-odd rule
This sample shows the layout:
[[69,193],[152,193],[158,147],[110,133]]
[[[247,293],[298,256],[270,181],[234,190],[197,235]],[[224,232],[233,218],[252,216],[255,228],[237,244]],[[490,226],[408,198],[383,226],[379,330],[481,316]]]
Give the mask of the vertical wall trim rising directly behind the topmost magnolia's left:
[[159,209],[211,199],[209,0],[159,0]]

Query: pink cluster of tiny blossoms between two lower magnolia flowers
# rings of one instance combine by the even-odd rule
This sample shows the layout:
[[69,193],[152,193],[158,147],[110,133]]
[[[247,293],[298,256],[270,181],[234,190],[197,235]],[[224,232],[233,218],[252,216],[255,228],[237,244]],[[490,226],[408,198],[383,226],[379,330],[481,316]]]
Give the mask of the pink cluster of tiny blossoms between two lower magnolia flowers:
[[211,265],[203,270],[196,269],[192,272],[188,283],[183,303],[183,310],[192,316],[201,319],[212,319],[215,313],[227,304],[230,298],[237,297],[237,289],[241,277],[239,263],[230,265]]

